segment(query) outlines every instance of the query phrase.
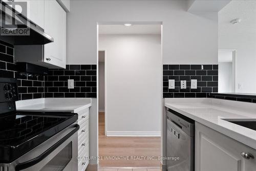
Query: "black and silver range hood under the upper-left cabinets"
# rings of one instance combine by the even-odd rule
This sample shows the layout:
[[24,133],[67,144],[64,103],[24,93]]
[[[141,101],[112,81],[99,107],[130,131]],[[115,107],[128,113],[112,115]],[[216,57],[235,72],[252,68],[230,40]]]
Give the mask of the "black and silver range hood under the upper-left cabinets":
[[[34,24],[31,20],[29,20],[23,14],[12,9],[9,5],[7,5],[2,0],[0,4],[0,12],[1,12],[1,35],[0,40],[8,42],[11,45],[45,45],[49,42],[53,42],[53,38],[44,32],[44,29],[40,28],[36,24]],[[14,29],[6,28],[4,24],[11,21],[14,23]],[[9,24],[9,23],[8,23]],[[9,25],[11,26],[11,24]],[[15,29],[16,28],[16,29]],[[16,34],[17,31],[22,31],[23,29],[28,30],[28,34]],[[2,30],[5,30],[13,34],[2,34]],[[5,32],[5,33],[7,33]]]

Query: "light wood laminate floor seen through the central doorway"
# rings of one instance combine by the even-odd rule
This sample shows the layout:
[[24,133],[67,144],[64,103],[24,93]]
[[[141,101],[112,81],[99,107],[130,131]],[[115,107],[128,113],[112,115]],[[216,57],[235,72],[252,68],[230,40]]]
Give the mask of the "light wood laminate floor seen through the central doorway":
[[[160,156],[160,137],[106,137],[104,113],[99,113],[99,156]],[[100,160],[100,167],[160,167],[159,160]]]

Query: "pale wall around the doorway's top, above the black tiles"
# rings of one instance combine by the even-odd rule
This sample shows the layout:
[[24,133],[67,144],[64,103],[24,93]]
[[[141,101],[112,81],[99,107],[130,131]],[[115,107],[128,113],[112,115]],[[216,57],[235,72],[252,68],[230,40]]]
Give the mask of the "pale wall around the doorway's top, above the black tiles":
[[97,22],[162,22],[163,63],[218,63],[217,12],[187,12],[187,1],[71,1],[67,62],[97,61]]

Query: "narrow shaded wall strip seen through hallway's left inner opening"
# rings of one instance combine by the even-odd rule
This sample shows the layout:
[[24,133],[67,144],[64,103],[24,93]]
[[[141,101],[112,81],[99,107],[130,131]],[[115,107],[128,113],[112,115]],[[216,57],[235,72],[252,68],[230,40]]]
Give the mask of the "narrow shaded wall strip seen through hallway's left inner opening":
[[105,111],[105,62],[99,62],[99,112]]

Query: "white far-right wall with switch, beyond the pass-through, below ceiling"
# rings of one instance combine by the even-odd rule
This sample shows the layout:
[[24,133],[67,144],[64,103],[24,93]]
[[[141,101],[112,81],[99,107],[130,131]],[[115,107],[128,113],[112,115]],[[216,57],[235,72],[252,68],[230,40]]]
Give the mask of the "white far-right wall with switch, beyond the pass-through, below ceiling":
[[256,35],[220,35],[219,49],[236,49],[236,92],[256,93]]

